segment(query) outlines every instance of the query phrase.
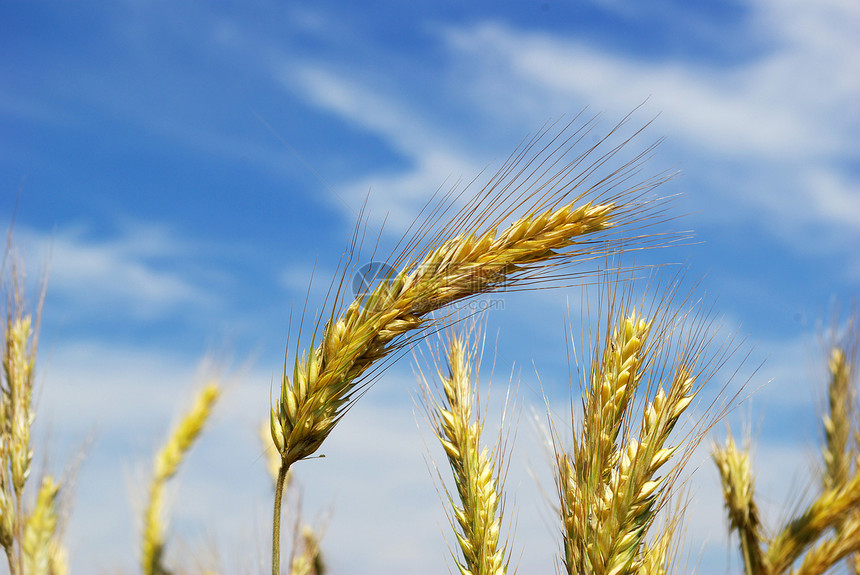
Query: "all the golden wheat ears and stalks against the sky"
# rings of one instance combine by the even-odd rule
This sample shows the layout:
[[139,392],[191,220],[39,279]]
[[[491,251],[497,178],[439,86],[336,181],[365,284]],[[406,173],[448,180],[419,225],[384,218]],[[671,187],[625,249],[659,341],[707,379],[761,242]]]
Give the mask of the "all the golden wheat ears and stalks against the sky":
[[[593,120],[579,118],[549,124],[481,185],[437,194],[390,255],[376,254],[386,271],[353,299],[350,280],[375,235],[359,218],[339,271],[324,288],[325,308],[316,316],[304,312],[299,329],[286,334],[292,339],[283,372],[268,413],[257,417],[259,463],[272,478],[271,520],[261,532],[271,535],[273,575],[329,572],[324,530],[295,509],[283,520],[294,475],[324,455],[336,428],[349,428],[350,412],[361,409],[362,396],[385,379],[387,368],[428,344],[418,388],[423,424],[444,453],[428,482],[436,481],[446,509],[451,571],[516,572],[516,506],[536,504],[506,491],[508,470],[518,465],[511,446],[524,421],[506,418],[498,434],[484,434],[486,401],[494,396],[478,377],[487,361],[482,314],[493,310],[464,313],[470,308],[461,304],[583,286],[599,295],[588,304],[596,315],[582,326],[582,351],[569,359],[577,366],[569,413],[536,406],[544,414],[554,477],[543,502],[558,539],[554,564],[571,575],[695,572],[684,547],[690,518],[683,478],[696,449],[742,399],[720,394],[728,388],[723,370],[742,362],[741,344],[723,337],[714,310],[698,294],[663,279],[671,272],[635,263],[640,252],[659,258],[687,238],[661,227],[675,217],[659,187],[672,174],[643,177],[651,147],[622,159],[641,130],[617,139],[627,129],[622,122],[594,143],[595,129]],[[33,464],[40,447],[31,428],[45,292],[25,293],[22,266],[10,239],[2,275],[0,543],[11,575],[61,575],[69,571],[68,514],[87,511],[70,503],[73,470],[40,473]],[[819,382],[820,486],[808,502],[786,502],[790,513],[768,524],[757,503],[762,494],[749,438],[738,442],[730,434],[711,446],[726,524],[746,574],[860,572],[860,317],[849,316],[831,330],[830,375]],[[720,401],[700,402],[705,388],[716,388]],[[171,544],[164,501],[166,486],[229,395],[229,386],[206,382],[154,455],[139,546],[128,550],[145,575],[230,572],[183,560]]]

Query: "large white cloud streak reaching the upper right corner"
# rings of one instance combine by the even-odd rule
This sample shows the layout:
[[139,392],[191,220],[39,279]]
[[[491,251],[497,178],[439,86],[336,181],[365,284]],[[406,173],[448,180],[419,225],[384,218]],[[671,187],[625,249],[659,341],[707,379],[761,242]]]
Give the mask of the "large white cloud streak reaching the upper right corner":
[[729,202],[705,217],[758,221],[805,249],[822,244],[811,226],[831,226],[830,239],[860,237],[856,176],[844,167],[860,153],[857,26],[856,6],[844,3],[754,4],[748,28],[726,33],[764,48],[721,64],[640,58],[490,23],[443,37],[457,77],[473,79],[474,105],[500,121],[528,126],[578,105],[622,115],[649,98],[648,109],[664,111],[669,144],[687,145],[676,149],[693,173],[696,164],[721,172],[709,191]]

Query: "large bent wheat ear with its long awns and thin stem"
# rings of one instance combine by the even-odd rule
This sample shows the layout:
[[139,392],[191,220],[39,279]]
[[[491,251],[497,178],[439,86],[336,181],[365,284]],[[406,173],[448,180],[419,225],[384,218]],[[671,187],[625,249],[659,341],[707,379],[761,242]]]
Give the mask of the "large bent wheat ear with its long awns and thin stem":
[[[514,151],[499,172],[458,208],[465,190],[432,200],[386,264],[392,272],[347,305],[356,226],[342,275],[332,286],[331,311],[317,325],[310,349],[286,362],[280,397],[270,410],[272,439],[281,455],[275,489],[272,573],[280,570],[279,485],[290,466],[313,455],[387,360],[430,329],[451,323],[452,303],[501,289],[537,289],[581,280],[576,265],[618,250],[668,241],[650,226],[663,204],[650,192],[670,177],[641,179],[649,147],[612,167],[630,140],[621,124],[586,144],[596,121],[549,126]],[[581,150],[581,151],[577,151]]]

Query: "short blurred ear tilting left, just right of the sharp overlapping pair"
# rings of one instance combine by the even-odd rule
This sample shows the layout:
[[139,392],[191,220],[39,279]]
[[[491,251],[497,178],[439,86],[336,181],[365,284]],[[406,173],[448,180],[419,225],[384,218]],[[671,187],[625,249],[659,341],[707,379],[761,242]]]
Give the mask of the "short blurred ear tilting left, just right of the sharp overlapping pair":
[[729,434],[725,447],[714,446],[730,529],[738,532],[746,575],[763,573],[761,519],[755,503],[755,480],[749,450],[739,450]]

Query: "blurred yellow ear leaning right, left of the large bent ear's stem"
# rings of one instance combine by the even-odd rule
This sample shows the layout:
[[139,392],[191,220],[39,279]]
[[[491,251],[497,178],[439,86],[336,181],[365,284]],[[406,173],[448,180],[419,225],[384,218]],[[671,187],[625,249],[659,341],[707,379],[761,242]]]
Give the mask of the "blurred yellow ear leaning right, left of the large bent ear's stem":
[[215,383],[204,386],[194,400],[194,405],[155,457],[155,470],[149,484],[149,501],[143,515],[141,566],[144,575],[169,573],[162,562],[165,543],[165,528],[161,520],[164,486],[176,474],[179,464],[203,431],[220,393],[221,390]]

